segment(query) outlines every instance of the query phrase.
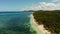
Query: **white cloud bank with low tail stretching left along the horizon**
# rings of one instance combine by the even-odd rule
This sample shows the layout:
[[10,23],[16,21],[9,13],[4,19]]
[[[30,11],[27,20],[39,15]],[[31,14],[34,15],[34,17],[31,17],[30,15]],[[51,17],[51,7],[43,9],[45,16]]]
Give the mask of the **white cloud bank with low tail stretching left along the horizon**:
[[60,6],[58,6],[59,4],[40,2],[38,6],[32,5],[31,7],[23,8],[23,10],[57,10],[60,9]]

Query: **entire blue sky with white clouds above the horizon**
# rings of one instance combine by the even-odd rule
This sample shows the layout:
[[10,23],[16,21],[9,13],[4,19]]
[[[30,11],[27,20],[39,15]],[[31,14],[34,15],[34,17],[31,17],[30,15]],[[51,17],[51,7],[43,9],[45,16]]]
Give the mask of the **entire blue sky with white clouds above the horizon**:
[[60,10],[60,0],[0,0],[0,11]]

